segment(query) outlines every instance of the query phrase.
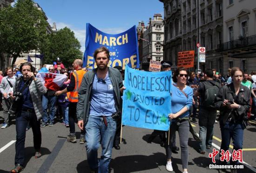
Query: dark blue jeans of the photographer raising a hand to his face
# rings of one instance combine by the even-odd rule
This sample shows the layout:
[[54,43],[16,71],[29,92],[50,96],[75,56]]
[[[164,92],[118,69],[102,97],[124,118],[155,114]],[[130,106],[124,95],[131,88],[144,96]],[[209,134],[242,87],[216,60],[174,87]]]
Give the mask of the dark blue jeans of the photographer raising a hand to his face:
[[24,166],[25,138],[28,123],[33,131],[34,149],[39,150],[41,147],[40,120],[37,120],[34,110],[32,112],[21,111],[16,116],[15,165],[20,164]]

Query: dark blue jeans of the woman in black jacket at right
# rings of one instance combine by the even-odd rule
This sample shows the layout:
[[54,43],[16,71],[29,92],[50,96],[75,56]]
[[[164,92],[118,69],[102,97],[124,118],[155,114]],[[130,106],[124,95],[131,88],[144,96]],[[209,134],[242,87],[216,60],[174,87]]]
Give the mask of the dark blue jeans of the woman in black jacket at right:
[[[233,146],[234,150],[239,150],[243,149],[243,127],[240,122],[233,122],[227,121],[224,125],[220,124],[221,127],[221,133],[222,133],[222,144],[221,144],[221,150],[224,150],[226,152],[229,150],[229,144],[230,144],[230,139],[232,138],[233,140]],[[220,155],[221,156],[221,155]],[[227,164],[226,161],[223,161],[220,163]],[[232,161],[230,159],[230,165],[235,165],[238,164],[239,162]]]

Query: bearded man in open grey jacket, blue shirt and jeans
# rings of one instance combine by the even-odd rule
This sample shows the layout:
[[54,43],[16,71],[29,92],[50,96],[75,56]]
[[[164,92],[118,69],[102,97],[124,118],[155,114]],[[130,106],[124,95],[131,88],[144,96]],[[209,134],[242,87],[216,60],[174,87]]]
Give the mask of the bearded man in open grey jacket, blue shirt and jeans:
[[[122,76],[117,69],[108,67],[109,59],[106,47],[95,50],[97,68],[84,75],[77,104],[78,126],[83,129],[86,125],[86,152],[94,173],[108,173],[116,131],[116,120],[112,115],[121,112]],[[98,161],[100,144],[102,153]]]

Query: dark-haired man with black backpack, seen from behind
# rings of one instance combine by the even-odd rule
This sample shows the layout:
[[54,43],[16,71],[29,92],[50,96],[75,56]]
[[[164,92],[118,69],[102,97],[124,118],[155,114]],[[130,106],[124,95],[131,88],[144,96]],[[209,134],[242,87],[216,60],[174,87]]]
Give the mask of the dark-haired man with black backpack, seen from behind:
[[216,108],[214,100],[221,88],[221,84],[213,80],[213,70],[206,70],[204,73],[206,81],[200,82],[195,91],[195,97],[201,97],[201,108],[199,111],[199,137],[201,139],[199,152],[205,154],[206,148],[212,146],[213,126],[216,120]]

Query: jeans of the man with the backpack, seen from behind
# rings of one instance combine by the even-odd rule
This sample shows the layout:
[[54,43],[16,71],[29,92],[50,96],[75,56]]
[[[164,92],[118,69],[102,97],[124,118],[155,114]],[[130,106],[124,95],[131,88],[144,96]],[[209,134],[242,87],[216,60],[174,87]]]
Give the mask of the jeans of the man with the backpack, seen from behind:
[[212,146],[213,126],[216,120],[216,110],[208,110],[201,107],[199,111],[199,137],[201,139],[200,151],[206,150],[206,146]]

